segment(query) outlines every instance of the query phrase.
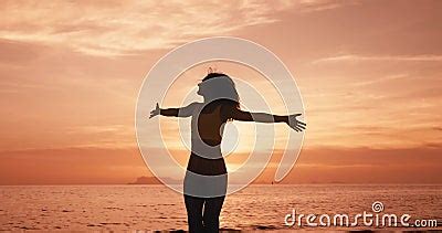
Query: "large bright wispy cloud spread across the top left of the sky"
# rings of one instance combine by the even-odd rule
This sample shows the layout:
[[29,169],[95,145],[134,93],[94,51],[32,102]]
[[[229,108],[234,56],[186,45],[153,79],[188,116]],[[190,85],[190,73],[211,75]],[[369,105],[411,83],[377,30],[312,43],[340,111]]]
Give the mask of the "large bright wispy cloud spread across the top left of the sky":
[[189,39],[227,35],[277,21],[278,12],[339,7],[309,1],[6,1],[0,7],[0,39],[66,44],[90,55],[124,55],[169,49]]

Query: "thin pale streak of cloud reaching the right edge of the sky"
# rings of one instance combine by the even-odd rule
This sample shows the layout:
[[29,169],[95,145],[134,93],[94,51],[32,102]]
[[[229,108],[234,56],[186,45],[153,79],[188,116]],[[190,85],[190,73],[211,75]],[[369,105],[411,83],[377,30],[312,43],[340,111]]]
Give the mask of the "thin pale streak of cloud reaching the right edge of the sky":
[[329,56],[313,61],[313,64],[328,63],[328,62],[442,62],[442,55],[434,54],[421,54],[421,55],[358,55],[358,54],[345,54],[337,56]]

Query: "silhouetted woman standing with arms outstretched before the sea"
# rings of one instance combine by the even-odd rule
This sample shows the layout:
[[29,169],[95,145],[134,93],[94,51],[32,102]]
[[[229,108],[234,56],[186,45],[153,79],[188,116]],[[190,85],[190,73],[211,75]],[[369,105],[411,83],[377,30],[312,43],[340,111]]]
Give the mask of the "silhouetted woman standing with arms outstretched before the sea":
[[256,123],[286,123],[296,131],[305,124],[296,119],[301,114],[277,116],[249,113],[240,108],[240,98],[233,81],[222,73],[209,73],[198,84],[203,103],[192,103],[181,108],[159,108],[157,115],[191,118],[191,155],[185,178],[185,203],[189,232],[210,233],[219,231],[219,216],[224,202],[228,176],[221,155],[224,124],[229,120]]

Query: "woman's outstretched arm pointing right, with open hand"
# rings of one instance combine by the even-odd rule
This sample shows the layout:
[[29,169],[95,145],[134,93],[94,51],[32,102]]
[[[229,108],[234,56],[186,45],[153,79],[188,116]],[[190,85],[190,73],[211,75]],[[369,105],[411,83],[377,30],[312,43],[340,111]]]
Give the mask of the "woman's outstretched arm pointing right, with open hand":
[[272,115],[266,113],[250,113],[241,110],[239,108],[233,108],[231,110],[232,119],[243,120],[243,121],[255,121],[255,123],[285,123],[291,128],[296,131],[302,131],[305,129],[306,124],[296,119],[301,114],[294,114],[288,116]]

